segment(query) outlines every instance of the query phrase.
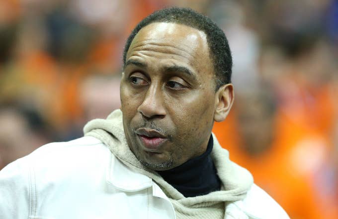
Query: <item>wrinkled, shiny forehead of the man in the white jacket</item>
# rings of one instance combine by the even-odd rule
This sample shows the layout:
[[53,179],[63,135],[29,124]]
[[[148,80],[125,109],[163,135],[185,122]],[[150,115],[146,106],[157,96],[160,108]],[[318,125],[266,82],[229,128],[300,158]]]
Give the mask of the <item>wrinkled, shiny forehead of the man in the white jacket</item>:
[[182,62],[197,71],[211,64],[206,34],[177,23],[156,22],[143,27],[133,39],[126,60],[131,57]]

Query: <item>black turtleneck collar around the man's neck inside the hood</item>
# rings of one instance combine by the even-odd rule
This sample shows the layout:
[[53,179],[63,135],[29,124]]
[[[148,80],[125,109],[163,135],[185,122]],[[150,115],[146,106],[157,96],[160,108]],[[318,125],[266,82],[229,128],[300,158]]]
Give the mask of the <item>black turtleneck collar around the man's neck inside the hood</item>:
[[186,161],[170,170],[158,173],[184,197],[206,195],[221,189],[221,181],[216,173],[210,153],[213,139],[210,136],[207,150],[200,156]]

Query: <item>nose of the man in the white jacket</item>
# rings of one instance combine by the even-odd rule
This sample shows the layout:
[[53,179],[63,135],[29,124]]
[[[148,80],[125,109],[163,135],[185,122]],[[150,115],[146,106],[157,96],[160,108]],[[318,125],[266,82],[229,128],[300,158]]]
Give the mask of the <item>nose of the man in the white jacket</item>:
[[164,117],[166,115],[166,109],[163,103],[161,89],[156,85],[151,85],[146,91],[144,100],[137,110],[148,119]]

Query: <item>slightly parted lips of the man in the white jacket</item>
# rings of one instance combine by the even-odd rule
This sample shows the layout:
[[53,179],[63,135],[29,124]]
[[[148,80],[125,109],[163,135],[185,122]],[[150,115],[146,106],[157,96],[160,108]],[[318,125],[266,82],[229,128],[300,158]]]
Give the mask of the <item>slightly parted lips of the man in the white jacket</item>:
[[168,138],[154,129],[139,128],[135,131],[143,145],[150,150],[158,149]]

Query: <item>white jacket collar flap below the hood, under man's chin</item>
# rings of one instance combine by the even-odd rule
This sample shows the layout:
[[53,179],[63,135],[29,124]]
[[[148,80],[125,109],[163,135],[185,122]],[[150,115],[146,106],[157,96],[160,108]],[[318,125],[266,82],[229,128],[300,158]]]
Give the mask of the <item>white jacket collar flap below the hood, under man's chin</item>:
[[106,174],[107,183],[118,190],[136,192],[152,186],[151,178],[132,171],[113,154],[111,154],[110,165]]

